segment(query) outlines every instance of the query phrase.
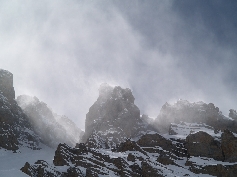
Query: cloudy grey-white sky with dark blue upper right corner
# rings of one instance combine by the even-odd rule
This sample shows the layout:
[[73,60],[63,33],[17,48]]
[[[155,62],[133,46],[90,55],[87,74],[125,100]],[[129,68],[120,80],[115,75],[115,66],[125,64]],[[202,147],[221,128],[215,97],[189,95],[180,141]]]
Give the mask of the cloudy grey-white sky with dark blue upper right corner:
[[235,0],[0,0],[0,68],[84,129],[101,83],[141,114],[165,102],[237,109]]

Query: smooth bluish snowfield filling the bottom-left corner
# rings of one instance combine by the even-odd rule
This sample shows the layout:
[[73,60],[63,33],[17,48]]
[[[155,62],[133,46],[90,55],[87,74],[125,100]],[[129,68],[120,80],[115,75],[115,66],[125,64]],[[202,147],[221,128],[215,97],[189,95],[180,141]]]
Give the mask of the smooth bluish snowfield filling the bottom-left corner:
[[41,144],[41,147],[41,150],[20,148],[18,153],[0,149],[0,176],[28,177],[28,175],[20,170],[26,162],[33,164],[37,160],[44,160],[52,164],[55,150],[43,144]]

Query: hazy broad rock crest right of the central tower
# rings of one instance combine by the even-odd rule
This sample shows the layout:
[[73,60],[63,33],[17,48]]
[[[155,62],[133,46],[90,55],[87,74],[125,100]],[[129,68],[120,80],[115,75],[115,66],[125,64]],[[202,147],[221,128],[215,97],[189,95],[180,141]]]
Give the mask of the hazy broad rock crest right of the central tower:
[[155,119],[155,127],[162,133],[168,133],[171,123],[196,122],[206,123],[215,129],[231,129],[236,131],[233,121],[226,118],[215,107],[213,103],[190,103],[186,100],[178,100],[174,105],[164,104],[160,110],[160,114]]

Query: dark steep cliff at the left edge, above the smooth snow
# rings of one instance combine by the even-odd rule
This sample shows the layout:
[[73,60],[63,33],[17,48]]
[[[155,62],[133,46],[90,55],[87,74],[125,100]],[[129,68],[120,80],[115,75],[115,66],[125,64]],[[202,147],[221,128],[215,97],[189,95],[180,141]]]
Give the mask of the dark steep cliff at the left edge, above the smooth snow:
[[39,137],[15,101],[13,75],[5,70],[0,70],[0,134],[0,147],[7,150],[39,148]]

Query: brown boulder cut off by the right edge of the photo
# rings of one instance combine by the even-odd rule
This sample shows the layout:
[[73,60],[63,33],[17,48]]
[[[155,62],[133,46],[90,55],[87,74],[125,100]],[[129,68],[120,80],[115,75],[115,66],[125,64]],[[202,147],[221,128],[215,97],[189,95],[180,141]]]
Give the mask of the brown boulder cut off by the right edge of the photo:
[[237,162],[237,137],[230,130],[222,133],[221,148],[226,162]]

